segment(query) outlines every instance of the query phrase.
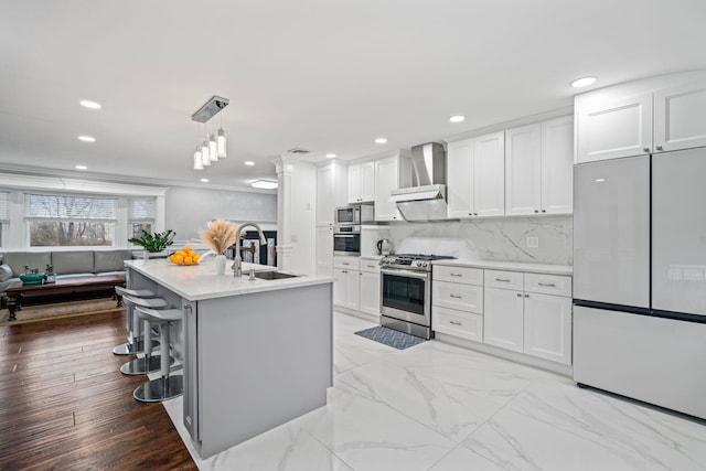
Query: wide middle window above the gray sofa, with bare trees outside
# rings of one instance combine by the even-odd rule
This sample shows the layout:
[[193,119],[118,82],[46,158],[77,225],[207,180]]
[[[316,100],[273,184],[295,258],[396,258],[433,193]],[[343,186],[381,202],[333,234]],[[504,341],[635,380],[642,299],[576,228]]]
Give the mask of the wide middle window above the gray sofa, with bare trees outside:
[[113,246],[116,206],[105,196],[25,194],[30,247]]

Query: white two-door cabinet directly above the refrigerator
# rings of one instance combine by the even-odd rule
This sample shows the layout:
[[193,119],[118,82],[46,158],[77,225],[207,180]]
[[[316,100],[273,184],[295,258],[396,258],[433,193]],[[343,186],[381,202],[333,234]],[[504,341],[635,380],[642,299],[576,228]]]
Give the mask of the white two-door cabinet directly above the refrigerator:
[[706,146],[706,77],[674,74],[577,95],[576,162]]

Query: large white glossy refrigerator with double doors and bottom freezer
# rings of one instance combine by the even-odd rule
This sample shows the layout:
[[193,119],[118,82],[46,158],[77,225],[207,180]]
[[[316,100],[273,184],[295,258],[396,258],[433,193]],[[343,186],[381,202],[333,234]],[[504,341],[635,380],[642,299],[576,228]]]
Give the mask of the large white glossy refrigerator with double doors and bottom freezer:
[[574,379],[706,419],[706,148],[575,165]]

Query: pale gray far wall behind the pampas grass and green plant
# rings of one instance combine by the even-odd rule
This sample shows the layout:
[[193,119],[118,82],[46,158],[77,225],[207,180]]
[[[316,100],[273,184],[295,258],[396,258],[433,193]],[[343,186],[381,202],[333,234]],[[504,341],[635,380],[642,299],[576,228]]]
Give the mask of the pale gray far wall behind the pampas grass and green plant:
[[164,227],[178,240],[199,237],[211,220],[254,221],[277,226],[277,194],[170,186],[164,197]]

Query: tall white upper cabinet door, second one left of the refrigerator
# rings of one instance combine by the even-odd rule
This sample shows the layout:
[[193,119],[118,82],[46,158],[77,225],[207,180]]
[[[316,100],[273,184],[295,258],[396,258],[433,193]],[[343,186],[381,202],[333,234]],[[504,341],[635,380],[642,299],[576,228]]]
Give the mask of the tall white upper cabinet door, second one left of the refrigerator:
[[524,126],[505,131],[506,215],[539,212],[541,169],[542,125]]

